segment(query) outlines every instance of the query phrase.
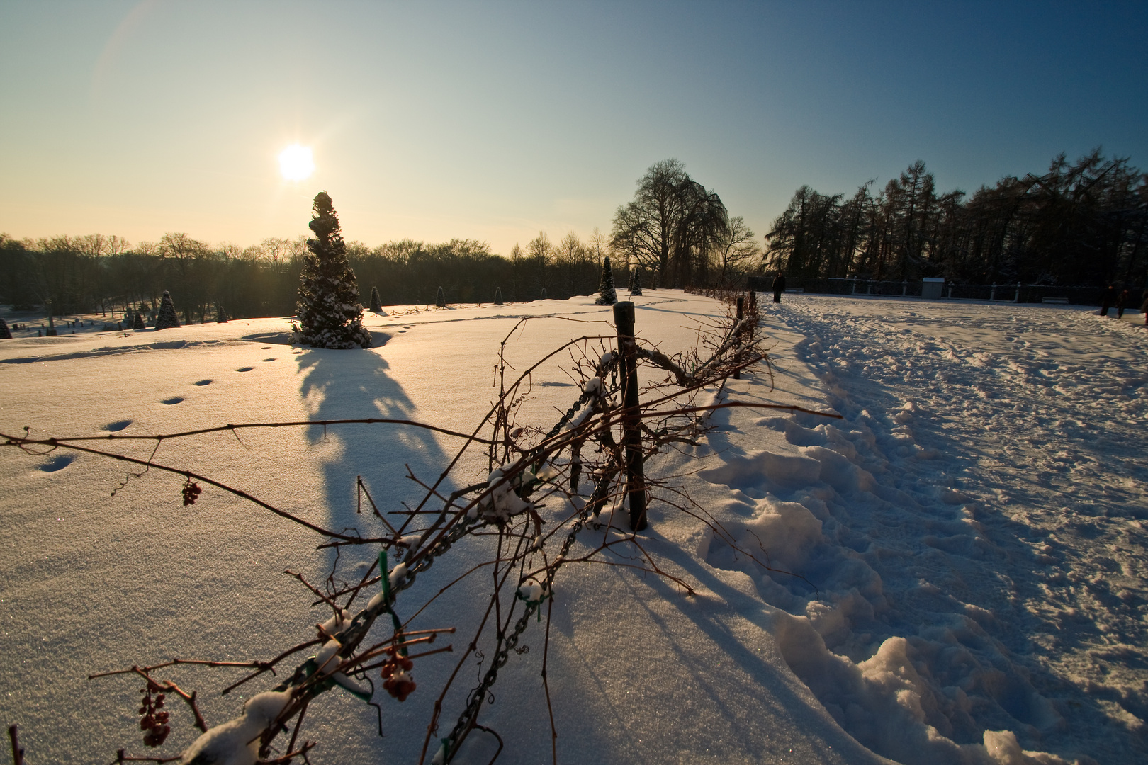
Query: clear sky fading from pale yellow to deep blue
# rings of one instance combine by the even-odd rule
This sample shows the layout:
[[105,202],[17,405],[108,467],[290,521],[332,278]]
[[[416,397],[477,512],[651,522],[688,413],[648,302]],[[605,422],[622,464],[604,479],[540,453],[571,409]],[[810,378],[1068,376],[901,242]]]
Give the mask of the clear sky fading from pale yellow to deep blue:
[[[1139,2],[0,0],[0,232],[608,233],[677,158],[761,235],[916,159],[974,192],[1101,146],[1148,165]],[[277,156],[312,149],[315,173]]]

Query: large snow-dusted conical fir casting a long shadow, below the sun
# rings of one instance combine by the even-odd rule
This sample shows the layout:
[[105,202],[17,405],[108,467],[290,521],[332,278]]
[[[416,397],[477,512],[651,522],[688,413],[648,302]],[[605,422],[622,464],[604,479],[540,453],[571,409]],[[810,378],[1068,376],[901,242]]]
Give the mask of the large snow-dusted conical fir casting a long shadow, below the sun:
[[315,196],[311,231],[307,240],[303,272],[298,279],[297,341],[312,348],[371,348],[371,333],[363,327],[355,272],[347,261],[347,245],[339,216],[326,192]]

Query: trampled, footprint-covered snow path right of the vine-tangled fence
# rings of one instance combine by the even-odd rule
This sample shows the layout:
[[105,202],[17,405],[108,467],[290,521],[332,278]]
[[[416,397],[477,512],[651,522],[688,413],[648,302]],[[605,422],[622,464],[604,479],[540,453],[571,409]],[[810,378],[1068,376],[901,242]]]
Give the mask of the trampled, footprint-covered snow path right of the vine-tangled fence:
[[[766,307],[767,325],[805,336],[797,352],[845,417],[761,421],[839,462],[836,477],[773,489],[823,521],[820,540],[791,532],[808,551],[789,561],[821,600],[786,577],[761,591],[808,616],[864,680],[850,686],[799,641],[797,674],[899,762],[937,762],[937,747],[881,718],[882,687],[916,694],[916,716],[957,743],[1013,729],[1026,749],[1143,762],[1148,331],[1038,306],[786,296]],[[727,483],[762,491],[734,468]]]

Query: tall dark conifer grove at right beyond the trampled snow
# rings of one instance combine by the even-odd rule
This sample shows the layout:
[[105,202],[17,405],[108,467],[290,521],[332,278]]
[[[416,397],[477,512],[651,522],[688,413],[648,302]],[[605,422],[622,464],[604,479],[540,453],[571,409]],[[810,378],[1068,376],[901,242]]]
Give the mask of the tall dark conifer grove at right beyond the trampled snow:
[[1048,172],[939,194],[915,162],[876,194],[808,186],[766,235],[766,268],[793,276],[1140,288],[1148,275],[1148,175],[1100,149]]

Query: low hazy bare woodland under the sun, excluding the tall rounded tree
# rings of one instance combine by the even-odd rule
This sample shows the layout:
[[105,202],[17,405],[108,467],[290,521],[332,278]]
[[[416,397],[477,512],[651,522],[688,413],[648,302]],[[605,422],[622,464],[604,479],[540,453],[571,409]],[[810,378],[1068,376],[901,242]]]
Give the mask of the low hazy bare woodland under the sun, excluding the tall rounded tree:
[[[413,240],[370,248],[348,242],[360,302],[371,288],[385,305],[429,304],[442,287],[451,303],[566,298],[597,291],[608,242],[595,233],[583,242],[574,233],[554,243],[541,232],[510,257],[474,240],[427,244]],[[56,236],[18,241],[0,234],[0,303],[17,310],[41,306],[55,314],[127,307],[154,311],[169,290],[187,323],[215,320],[217,306],[233,318],[290,315],[295,312],[307,236],[266,239],[259,244],[216,248],[183,233],[134,247],[116,236]],[[621,278],[628,278],[623,270]]]

